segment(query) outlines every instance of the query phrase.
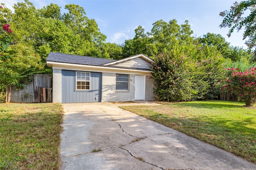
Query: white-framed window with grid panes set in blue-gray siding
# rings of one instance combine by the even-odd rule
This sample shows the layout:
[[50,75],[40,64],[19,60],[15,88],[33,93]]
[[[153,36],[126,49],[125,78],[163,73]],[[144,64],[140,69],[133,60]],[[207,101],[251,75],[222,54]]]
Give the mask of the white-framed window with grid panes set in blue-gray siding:
[[76,72],[76,90],[90,90],[90,72]]

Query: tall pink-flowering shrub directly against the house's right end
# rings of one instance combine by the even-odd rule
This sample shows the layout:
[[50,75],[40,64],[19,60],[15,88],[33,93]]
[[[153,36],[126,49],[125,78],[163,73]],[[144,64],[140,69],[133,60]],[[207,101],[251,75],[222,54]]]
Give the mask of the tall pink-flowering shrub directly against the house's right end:
[[191,98],[191,76],[188,57],[175,57],[174,54],[154,56],[152,77],[156,84],[156,98],[162,101],[177,102]]

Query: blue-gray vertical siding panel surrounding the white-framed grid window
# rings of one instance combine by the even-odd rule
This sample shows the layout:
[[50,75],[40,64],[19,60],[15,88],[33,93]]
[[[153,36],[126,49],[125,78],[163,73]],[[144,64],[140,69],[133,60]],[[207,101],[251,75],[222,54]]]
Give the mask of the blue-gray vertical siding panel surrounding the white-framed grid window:
[[62,103],[100,102],[101,78],[100,72],[90,72],[90,90],[79,91],[76,90],[76,71],[62,70]]

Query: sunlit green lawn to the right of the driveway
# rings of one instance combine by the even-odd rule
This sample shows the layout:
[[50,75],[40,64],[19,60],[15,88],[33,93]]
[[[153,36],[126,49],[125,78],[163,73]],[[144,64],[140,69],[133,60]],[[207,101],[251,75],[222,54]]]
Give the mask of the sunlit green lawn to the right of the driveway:
[[256,164],[256,107],[241,102],[196,101],[122,106]]

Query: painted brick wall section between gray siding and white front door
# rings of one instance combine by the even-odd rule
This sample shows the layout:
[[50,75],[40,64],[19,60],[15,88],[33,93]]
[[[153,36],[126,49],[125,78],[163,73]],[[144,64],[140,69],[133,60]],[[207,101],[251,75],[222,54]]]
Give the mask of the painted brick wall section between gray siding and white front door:
[[135,75],[129,74],[129,79],[128,91],[116,90],[116,73],[102,73],[102,102],[134,101]]

